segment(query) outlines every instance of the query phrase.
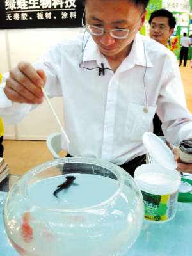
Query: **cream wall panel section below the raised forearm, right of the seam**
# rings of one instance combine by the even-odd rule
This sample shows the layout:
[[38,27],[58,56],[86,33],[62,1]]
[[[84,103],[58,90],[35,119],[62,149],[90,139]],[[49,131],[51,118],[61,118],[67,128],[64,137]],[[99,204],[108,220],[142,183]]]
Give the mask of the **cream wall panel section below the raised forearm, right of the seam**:
[[[63,98],[52,98],[51,104],[63,125]],[[54,132],[61,132],[47,102],[44,100],[36,109],[17,125],[19,140],[47,140],[47,137]]]

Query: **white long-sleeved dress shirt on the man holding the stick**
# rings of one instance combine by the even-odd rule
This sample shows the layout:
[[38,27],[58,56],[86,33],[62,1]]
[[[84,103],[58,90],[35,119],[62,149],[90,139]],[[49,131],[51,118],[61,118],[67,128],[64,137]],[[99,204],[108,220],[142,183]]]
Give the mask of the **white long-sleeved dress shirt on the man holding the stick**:
[[[95,68],[104,63],[110,68],[92,36],[87,38],[81,66]],[[153,131],[156,111],[168,142],[178,145],[192,136],[192,115],[186,109],[177,58],[170,50],[137,34],[129,56],[116,72],[105,70],[105,76],[99,76],[98,68],[79,67],[82,40],[80,34],[54,44],[33,64],[45,70],[48,97],[63,97],[64,129],[70,140],[69,151],[63,141],[65,151],[123,164],[147,152],[142,136]],[[11,102],[3,87],[1,84],[0,116],[5,124],[20,122],[35,106]],[[148,113],[143,111],[145,88]]]

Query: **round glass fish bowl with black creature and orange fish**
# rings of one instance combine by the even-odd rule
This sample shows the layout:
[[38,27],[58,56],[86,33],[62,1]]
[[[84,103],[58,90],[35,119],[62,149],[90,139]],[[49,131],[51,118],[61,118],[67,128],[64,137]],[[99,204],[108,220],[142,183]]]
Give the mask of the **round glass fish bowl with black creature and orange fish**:
[[124,255],[143,220],[143,196],[131,175],[92,158],[36,166],[4,204],[6,234],[20,255]]

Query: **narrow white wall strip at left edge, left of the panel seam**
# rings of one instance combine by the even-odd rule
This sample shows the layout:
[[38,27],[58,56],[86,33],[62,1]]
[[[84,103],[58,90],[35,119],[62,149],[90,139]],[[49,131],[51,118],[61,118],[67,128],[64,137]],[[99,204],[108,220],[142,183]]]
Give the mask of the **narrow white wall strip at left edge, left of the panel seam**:
[[5,30],[0,30],[0,73],[4,74],[8,72],[8,60],[6,52],[6,35]]

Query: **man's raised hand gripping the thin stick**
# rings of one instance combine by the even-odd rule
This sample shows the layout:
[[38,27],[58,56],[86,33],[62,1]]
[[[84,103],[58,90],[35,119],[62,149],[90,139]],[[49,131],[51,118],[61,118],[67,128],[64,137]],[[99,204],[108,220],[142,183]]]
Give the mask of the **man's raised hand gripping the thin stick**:
[[6,79],[4,93],[13,102],[41,104],[46,76],[44,70],[35,70],[30,63],[20,62],[17,68],[10,71],[10,77]]

